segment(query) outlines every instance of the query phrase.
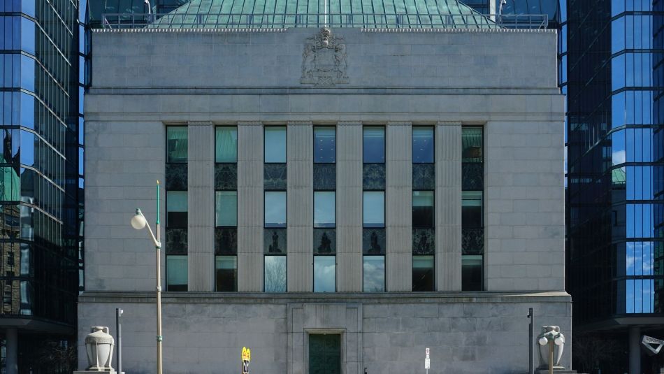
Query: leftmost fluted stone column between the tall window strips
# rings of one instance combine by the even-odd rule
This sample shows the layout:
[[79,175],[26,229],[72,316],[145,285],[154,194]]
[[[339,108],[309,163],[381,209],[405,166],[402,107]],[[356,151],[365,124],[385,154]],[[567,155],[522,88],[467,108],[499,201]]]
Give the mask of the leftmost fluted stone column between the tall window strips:
[[215,127],[189,122],[189,291],[215,289]]

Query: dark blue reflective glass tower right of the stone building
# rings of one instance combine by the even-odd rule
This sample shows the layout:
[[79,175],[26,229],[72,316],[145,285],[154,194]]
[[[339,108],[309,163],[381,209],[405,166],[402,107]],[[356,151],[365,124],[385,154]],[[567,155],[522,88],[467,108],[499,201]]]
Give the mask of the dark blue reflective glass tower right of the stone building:
[[629,364],[616,355],[602,373],[628,365],[641,373],[640,364],[650,372],[654,361],[640,358],[638,345],[642,334],[664,332],[663,2],[566,5],[561,80],[575,331],[629,347]]

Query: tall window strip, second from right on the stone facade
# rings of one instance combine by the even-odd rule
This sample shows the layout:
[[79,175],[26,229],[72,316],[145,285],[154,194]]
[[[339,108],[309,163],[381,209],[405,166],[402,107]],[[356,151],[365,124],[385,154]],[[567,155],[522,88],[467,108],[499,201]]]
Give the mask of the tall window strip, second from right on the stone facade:
[[434,290],[435,129],[412,128],[412,290]]

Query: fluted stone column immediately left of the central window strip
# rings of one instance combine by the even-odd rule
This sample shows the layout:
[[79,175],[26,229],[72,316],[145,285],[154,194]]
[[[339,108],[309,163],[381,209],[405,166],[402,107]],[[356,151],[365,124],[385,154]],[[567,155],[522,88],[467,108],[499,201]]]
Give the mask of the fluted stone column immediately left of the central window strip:
[[313,290],[313,127],[288,122],[287,128],[287,290]]

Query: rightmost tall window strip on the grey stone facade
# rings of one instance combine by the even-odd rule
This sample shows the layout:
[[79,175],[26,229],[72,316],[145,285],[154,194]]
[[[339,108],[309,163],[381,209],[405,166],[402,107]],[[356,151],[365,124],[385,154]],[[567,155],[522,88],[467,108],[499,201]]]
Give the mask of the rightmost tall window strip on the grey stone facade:
[[482,291],[484,268],[484,152],[482,127],[461,133],[461,289]]

